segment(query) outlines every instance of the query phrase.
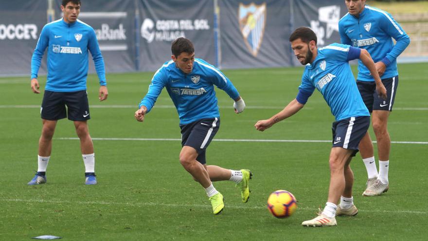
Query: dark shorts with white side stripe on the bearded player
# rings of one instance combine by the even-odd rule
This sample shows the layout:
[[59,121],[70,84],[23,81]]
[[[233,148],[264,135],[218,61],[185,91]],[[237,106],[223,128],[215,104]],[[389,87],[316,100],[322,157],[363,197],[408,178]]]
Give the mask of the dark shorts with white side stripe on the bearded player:
[[361,139],[369,130],[370,116],[351,117],[333,122],[333,147],[354,150],[351,156],[358,152]]

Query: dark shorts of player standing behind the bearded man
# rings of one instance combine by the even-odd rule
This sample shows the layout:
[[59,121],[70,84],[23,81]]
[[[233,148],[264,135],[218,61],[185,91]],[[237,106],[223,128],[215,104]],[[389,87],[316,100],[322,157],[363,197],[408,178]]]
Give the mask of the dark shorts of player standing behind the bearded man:
[[395,93],[397,92],[398,75],[392,78],[382,79],[382,83],[388,95],[386,100],[377,96],[375,82],[357,80],[358,91],[370,113],[373,111],[392,111]]

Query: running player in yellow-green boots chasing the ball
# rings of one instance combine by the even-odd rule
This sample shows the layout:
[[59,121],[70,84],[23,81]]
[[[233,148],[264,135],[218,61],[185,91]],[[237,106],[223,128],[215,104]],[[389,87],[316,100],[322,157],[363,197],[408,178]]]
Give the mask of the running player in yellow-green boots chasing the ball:
[[236,113],[244,111],[245,103],[232,82],[213,65],[195,58],[195,49],[190,40],[179,37],[172,43],[172,60],[165,62],[152,78],[148,93],[142,99],[135,118],[142,122],[152,109],[160,92],[165,87],[180,119],[181,165],[205,188],[213,206],[213,213],[224,208],[223,195],[212,181],[230,180],[241,189],[242,202],[250,197],[248,169],[229,170],[207,166],[206,148],[220,127],[220,114],[214,85],[225,91],[235,101]]

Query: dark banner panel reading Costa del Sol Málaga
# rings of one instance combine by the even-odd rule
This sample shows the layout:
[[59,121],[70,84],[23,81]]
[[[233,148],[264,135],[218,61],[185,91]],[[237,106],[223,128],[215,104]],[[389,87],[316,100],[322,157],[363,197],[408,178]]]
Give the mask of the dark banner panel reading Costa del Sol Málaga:
[[215,64],[213,0],[140,0],[140,69],[153,71],[171,59],[171,43],[190,39],[196,58]]

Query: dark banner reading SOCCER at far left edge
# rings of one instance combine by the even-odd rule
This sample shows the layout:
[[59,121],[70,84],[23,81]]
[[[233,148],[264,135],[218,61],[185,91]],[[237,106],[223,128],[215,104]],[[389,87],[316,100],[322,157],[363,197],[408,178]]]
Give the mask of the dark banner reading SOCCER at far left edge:
[[[0,75],[28,75],[38,36],[47,21],[46,1],[15,0],[0,8]],[[46,74],[46,61],[40,67]]]

